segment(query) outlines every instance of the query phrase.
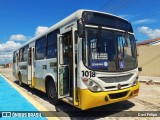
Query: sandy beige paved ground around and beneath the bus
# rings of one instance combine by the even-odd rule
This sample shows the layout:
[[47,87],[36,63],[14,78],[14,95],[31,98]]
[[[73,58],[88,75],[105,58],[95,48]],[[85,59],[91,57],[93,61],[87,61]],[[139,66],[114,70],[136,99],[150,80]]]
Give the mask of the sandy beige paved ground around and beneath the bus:
[[[0,69],[0,73],[7,77],[9,80],[11,80],[13,83],[15,83],[18,86],[17,80],[12,76],[11,69]],[[74,114],[81,114],[79,113],[79,109],[68,105],[67,103],[62,102],[60,106],[56,107],[50,104],[47,100],[47,96],[35,89],[31,89],[29,87],[23,87],[21,88],[24,92],[26,92],[28,95],[33,97],[36,101],[38,101],[41,105],[46,107],[49,111],[56,111],[57,109],[61,112],[54,112],[54,114],[59,117],[59,119],[66,120],[66,119],[82,119],[77,117],[69,117]],[[72,112],[71,112],[72,111]],[[92,111],[92,112],[91,112]],[[109,112],[110,111],[110,112]],[[160,115],[160,85],[158,84],[150,84],[146,85],[146,83],[141,83],[140,85],[140,93],[139,96],[132,98],[127,101],[114,103],[111,105],[106,105],[98,108],[94,108],[88,111],[85,111],[83,115],[97,115],[94,119],[110,119],[110,120],[160,120],[160,117],[123,117],[123,116],[130,116],[138,115],[137,112],[133,111],[150,111],[153,115],[156,115],[157,113]],[[153,113],[153,111],[159,111],[156,113]],[[140,115],[141,112],[139,112]],[[148,112],[145,112],[148,114]],[[121,116],[122,117],[115,117],[115,116]],[[135,116],[136,116],[135,115]],[[141,114],[145,115],[145,114]],[[150,114],[151,115],[151,114]],[[63,117],[62,117],[63,116]],[[93,119],[93,118],[86,118],[83,117],[83,119]]]

